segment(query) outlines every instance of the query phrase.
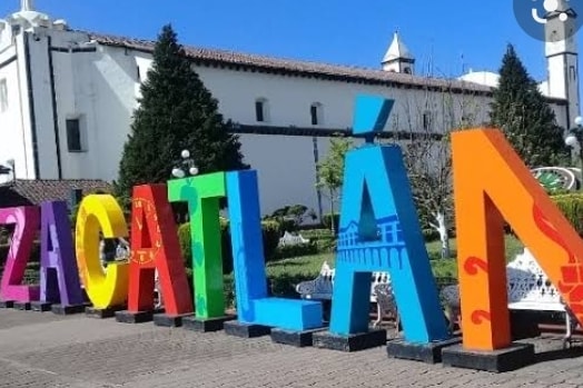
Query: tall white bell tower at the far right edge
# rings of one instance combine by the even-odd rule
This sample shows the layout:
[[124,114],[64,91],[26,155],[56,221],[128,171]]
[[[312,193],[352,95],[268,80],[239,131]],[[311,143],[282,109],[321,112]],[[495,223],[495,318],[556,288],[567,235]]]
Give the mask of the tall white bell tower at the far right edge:
[[556,10],[547,12],[544,18],[549,92],[567,100],[567,122],[571,126],[580,115],[577,14],[565,0],[557,0],[556,4]]

